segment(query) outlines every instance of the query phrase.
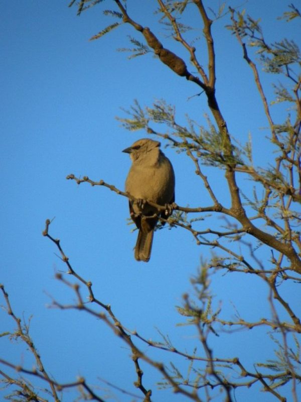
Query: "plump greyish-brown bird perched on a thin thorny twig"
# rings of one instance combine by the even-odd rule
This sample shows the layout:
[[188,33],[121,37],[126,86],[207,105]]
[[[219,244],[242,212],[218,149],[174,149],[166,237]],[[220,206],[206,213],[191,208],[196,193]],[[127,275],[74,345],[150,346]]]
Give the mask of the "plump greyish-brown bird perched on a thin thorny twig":
[[129,212],[139,230],[134,252],[137,261],[149,261],[158,215],[165,219],[171,215],[171,209],[160,212],[146,200],[160,206],[175,202],[173,165],[160,146],[159,141],[141,138],[122,151],[128,153],[132,161],[125,181],[125,191],[135,198],[129,198]]

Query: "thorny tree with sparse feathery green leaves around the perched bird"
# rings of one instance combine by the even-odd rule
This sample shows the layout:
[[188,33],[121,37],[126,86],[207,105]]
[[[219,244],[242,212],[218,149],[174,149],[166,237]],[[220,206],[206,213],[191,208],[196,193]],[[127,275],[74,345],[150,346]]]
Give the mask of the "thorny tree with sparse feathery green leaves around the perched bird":
[[[101,0],[81,0],[76,4],[77,13],[80,15],[100,3]],[[73,5],[75,0],[70,4]],[[259,21],[239,9],[226,9],[223,5],[219,10],[211,10],[201,0],[158,0],[155,16],[167,29],[168,37],[174,39],[180,48],[183,47],[186,53],[182,56],[182,50],[174,53],[168,48],[168,38],[159,39],[156,22],[154,28],[148,28],[130,14],[125,2],[114,0],[110,5],[112,9],[105,10],[104,14],[114,19],[114,22],[91,39],[108,35],[121,25],[125,25],[129,33],[136,31],[138,39],[130,36],[130,42],[135,46],[130,49],[130,57],[144,56],[146,53],[155,54],[158,63],[165,64],[171,74],[176,73],[181,79],[195,84],[200,91],[196,96],[205,98],[208,104],[210,114],[206,115],[207,126],[189,117],[187,124],[179,122],[174,105],[169,105],[164,100],[158,100],[154,105],[145,108],[136,101],[125,111],[126,116],[119,118],[127,130],[142,130],[162,138],[164,143],[176,152],[186,153],[202,182],[200,185],[206,189],[211,199],[205,206],[200,200],[200,206],[196,208],[174,204],[171,206],[173,216],[167,220],[170,228],[190,232],[197,245],[211,250],[210,259],[208,257],[201,262],[197,274],[192,279],[193,291],[185,293],[182,306],[177,307],[182,325],[185,325],[184,328],[191,326],[198,340],[193,347],[190,343],[187,347],[178,348],[174,345],[171,334],[160,333],[160,341],[153,341],[148,339],[147,334],[142,334],[140,329],[128,329],[126,318],[115,315],[113,308],[103,303],[101,297],[94,293],[92,283],[71,265],[60,241],[50,234],[51,222],[47,220],[43,235],[55,244],[67,265],[67,273],[75,279],[71,281],[67,279],[67,275],[61,273],[56,275],[57,279],[74,291],[76,301],[65,304],[53,299],[53,306],[63,310],[84,311],[101,320],[111,329],[113,335],[127,345],[136,373],[134,385],[139,389],[142,400],[153,400],[152,390],[155,385],[149,386],[147,372],[143,369],[143,376],[141,365],[157,370],[163,378],[160,386],[171,388],[180,395],[179,400],[211,400],[218,394],[217,390],[220,390],[220,400],[232,401],[241,389],[248,389],[252,394],[254,388],[260,386],[261,390],[275,400],[296,401],[297,386],[301,379],[298,340],[301,323],[293,300],[301,273],[301,244],[298,232],[298,208],[301,201],[301,76],[297,73],[300,64],[298,46],[288,39],[268,43]],[[186,21],[185,18],[189,16],[191,9],[198,13],[203,26],[203,35],[200,38],[194,38],[192,28],[182,22]],[[293,5],[290,5],[282,16],[287,23],[294,23],[299,17],[301,15]],[[221,102],[216,94],[216,53],[212,26],[220,19],[227,19],[226,28],[241,46],[242,57],[250,67],[250,75],[253,76],[268,122],[270,155],[260,167],[254,163],[251,137],[244,143],[241,138],[230,133],[229,122],[223,116]],[[269,102],[262,85],[258,57],[263,73],[277,77],[272,102]],[[273,115],[271,104],[276,104],[284,111],[289,105],[289,111],[283,121],[278,121]],[[222,172],[229,199],[220,199],[216,195],[215,183],[210,179],[212,170]],[[243,185],[244,178],[251,182],[246,189]],[[118,195],[131,197],[103,180],[95,181],[87,176],[79,178],[74,174],[68,175],[67,179],[76,180],[78,184],[87,182],[93,186],[105,186]],[[167,208],[157,207],[161,211]],[[222,220],[215,220],[215,215],[222,217]],[[163,218],[160,220],[164,221]],[[207,222],[210,222],[209,229],[204,229],[204,221],[206,226]],[[163,226],[159,225],[158,229],[162,228]],[[235,317],[225,317],[222,306],[211,290],[211,280],[214,277],[224,280],[223,275],[228,277],[229,274],[243,275],[246,282],[254,277],[255,281],[252,283],[262,282],[266,286],[263,317],[255,320],[244,317],[240,314],[238,304],[234,307]],[[17,325],[15,333],[2,335],[25,342],[37,365],[35,369],[28,369],[1,360],[4,366],[1,371],[4,382],[13,388],[9,398],[48,400],[49,396],[45,396],[47,392],[51,399],[61,400],[61,391],[78,387],[82,399],[105,400],[106,397],[91,386],[88,379],[79,378],[73,383],[64,383],[58,382],[50,375],[47,368],[44,368],[42,358],[29,334],[29,324],[15,315],[4,286],[2,292],[7,312]],[[86,294],[89,303],[85,303]],[[223,298],[223,294],[218,297]],[[239,300],[236,300],[236,303],[239,303]],[[220,335],[230,332],[231,339],[243,345],[247,338],[246,332],[250,330],[259,334],[264,331],[269,336],[275,349],[273,356],[261,361],[253,361],[249,356],[252,364],[246,364],[239,354],[230,356],[227,349],[226,352],[223,350],[225,340]],[[221,346],[218,346],[219,342]],[[148,350],[145,352],[145,346],[159,351],[160,354],[152,355]],[[172,361],[169,363],[170,359]],[[7,367],[17,369],[20,375],[8,374]],[[25,374],[30,374],[33,382],[26,380]],[[44,380],[43,388],[47,391],[44,390],[43,396],[34,383],[37,378]],[[118,379],[115,384],[108,385],[118,389]],[[128,389],[130,384],[126,390],[121,391],[131,397],[131,391]],[[172,396],[169,397],[172,400]]]

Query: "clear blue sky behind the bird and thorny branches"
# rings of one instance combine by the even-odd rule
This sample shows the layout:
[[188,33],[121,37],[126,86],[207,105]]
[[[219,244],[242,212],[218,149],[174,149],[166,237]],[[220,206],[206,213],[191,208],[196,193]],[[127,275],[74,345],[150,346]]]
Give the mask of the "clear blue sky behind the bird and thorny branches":
[[[210,2],[210,7],[217,9],[219,4]],[[130,233],[126,221],[127,200],[103,187],[85,183],[78,186],[67,181],[66,175],[88,175],[123,189],[130,161],[121,150],[145,137],[145,133],[125,131],[115,117],[124,116],[120,108],[129,108],[134,99],[146,106],[155,99],[165,98],[176,105],[182,124],[189,113],[199,124],[206,125],[204,114],[208,109],[204,96],[191,97],[200,92],[198,87],[173,75],[152,55],[128,60],[126,53],[115,51],[130,47],[126,35],[139,39],[131,27],[122,26],[100,40],[88,41],[111,22],[102,15],[104,8],[110,8],[110,2],[83,13],[80,18],[76,16],[76,8],[69,9],[67,5],[68,2],[58,0],[18,0],[6,2],[2,7],[0,152],[4,195],[0,211],[0,281],[10,294],[16,314],[27,319],[33,316],[32,337],[45,366],[58,381],[72,381],[83,375],[99,385],[97,377],[101,377],[117,381],[119,386],[138,394],[131,386],[135,373],[128,358],[130,351],[108,328],[78,312],[47,308],[51,304],[50,295],[66,303],[74,295],[54,278],[55,272],[64,271],[65,267],[42,231],[45,220],[55,218],[50,234],[61,239],[73,268],[93,282],[94,293],[112,306],[126,327],[152,339],[159,338],[156,330],[159,328],[177,345],[192,349],[197,342],[196,333],[193,328],[176,327],[182,318],[175,305],[181,305],[182,294],[191,290],[190,278],[196,273],[200,259],[210,258],[211,251],[197,247],[186,231],[164,229],[155,234],[149,263],[137,263],[132,250],[136,232]],[[238,5],[240,2],[231,3],[232,7]],[[282,36],[298,41],[299,25],[276,20],[286,10],[285,2],[249,0],[242,8],[255,19],[262,18],[268,42]],[[152,2],[145,2],[142,7],[139,1],[128,1],[128,11],[142,25],[152,26]],[[196,13],[191,12],[190,18],[197,22]],[[260,164],[267,161],[267,121],[241,49],[224,29],[227,23],[225,17],[213,26],[217,97],[230,132],[242,142],[252,134],[255,163]],[[201,34],[201,28],[196,31]],[[178,51],[177,44],[168,38],[164,40],[167,47]],[[179,52],[184,55],[182,50]],[[269,79],[263,79],[263,83],[271,100]],[[281,122],[280,109],[278,112],[275,107],[273,113]],[[170,148],[165,153],[175,168],[177,203],[210,205],[191,161]],[[217,194],[227,203],[223,173],[206,168],[205,172],[210,174]],[[249,191],[248,182],[243,181],[242,185]],[[204,225],[207,228],[209,223],[205,220]],[[267,290],[255,278],[245,282],[239,276],[215,275],[212,286],[215,303],[222,299],[225,313],[232,314],[231,303],[236,303],[233,299],[239,295],[241,313],[246,317],[256,320],[263,314],[262,300],[266,299]],[[254,287],[258,289],[258,300],[253,299]],[[295,304],[299,302],[299,296],[292,300]],[[4,312],[0,323],[0,332],[14,328]],[[222,353],[228,346],[232,357],[233,353],[239,354],[231,353],[236,336],[225,334],[215,350]],[[244,338],[250,349],[254,348],[255,359],[256,355],[259,358],[271,353],[265,346],[257,349],[255,340],[260,336],[263,335],[258,330],[255,334],[246,333]],[[236,347],[244,354],[242,338],[237,339]],[[0,353],[16,364],[32,365],[20,344],[9,346],[1,341]],[[158,352],[153,353],[162,358]],[[160,375],[151,369],[147,373],[145,386],[153,388],[154,400],[181,400],[169,391],[158,392],[154,383],[160,380]],[[258,395],[258,390],[248,396],[238,392],[246,401]],[[130,400],[115,393],[117,400]],[[65,400],[71,400],[71,395]],[[272,399],[267,395],[265,400]]]

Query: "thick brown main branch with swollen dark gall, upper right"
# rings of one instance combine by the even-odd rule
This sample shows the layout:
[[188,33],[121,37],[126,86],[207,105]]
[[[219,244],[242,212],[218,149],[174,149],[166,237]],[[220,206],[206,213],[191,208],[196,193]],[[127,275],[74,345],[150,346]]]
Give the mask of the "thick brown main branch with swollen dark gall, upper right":
[[[201,81],[198,77],[193,76],[188,70],[187,66],[182,58],[177,56],[175,53],[171,52],[169,49],[164,48],[163,44],[159,41],[157,36],[152,32],[148,27],[143,27],[136,21],[130,18],[129,14],[127,13],[126,8],[123,6],[123,4],[119,0],[114,0],[115,4],[117,5],[118,9],[121,12],[121,16],[123,19],[124,23],[130,24],[135,30],[140,32],[143,37],[145,38],[147,44],[154,50],[154,52],[159,56],[159,59],[161,62],[164,64],[168,65],[176,74],[180,76],[185,76],[187,79],[194,81],[198,85],[200,85],[208,99],[208,106],[210,108],[210,111],[212,112],[212,115],[215,119],[215,122],[217,124],[217,127],[219,129],[219,135],[222,139],[222,144],[223,144],[223,155],[225,161],[228,160],[228,162],[225,162],[225,167],[226,167],[226,181],[228,184],[229,192],[230,192],[230,197],[231,197],[231,208],[227,211],[227,214],[229,216],[234,217],[236,220],[240,222],[242,227],[245,229],[247,233],[249,233],[251,236],[254,236],[257,238],[259,241],[262,243],[276,249],[279,251],[279,253],[285,255],[291,262],[291,269],[295,270],[296,272],[301,272],[301,262],[299,259],[299,256],[297,255],[293,245],[291,242],[281,242],[278,239],[276,239],[274,236],[270,235],[267,231],[264,232],[258,227],[256,227],[251,220],[248,218],[246,210],[243,206],[243,202],[241,199],[241,194],[239,187],[237,185],[237,176],[236,172],[241,169],[239,166],[237,166],[237,161],[234,158],[233,155],[233,144],[231,141],[231,137],[229,134],[229,131],[227,129],[227,124],[223,118],[223,115],[219,109],[218,102],[215,96],[215,49],[214,49],[214,41],[213,37],[211,34],[211,25],[212,21],[209,19],[207,12],[205,10],[204,4],[202,0],[194,0],[193,3],[195,6],[198,8],[203,25],[204,25],[204,38],[207,44],[207,52],[208,52],[208,77],[203,69],[198,69],[198,72],[202,76],[203,81]],[[189,50],[191,54],[191,61],[192,63],[198,68],[200,65],[198,61],[195,58],[194,55],[194,49],[191,47],[187,41],[184,40],[180,29],[179,25],[177,22],[177,19],[174,17],[173,14],[173,9],[169,8],[167,6],[167,3],[165,3],[163,0],[158,0],[160,10],[161,12],[167,17],[174,29],[175,32],[175,39],[180,42],[187,50]],[[230,9],[230,12],[232,13],[232,23],[235,28],[235,19],[233,18],[234,15],[234,10]],[[236,30],[237,31],[237,30]],[[238,35],[238,39],[240,39],[240,36]],[[243,43],[241,42],[242,46]],[[266,44],[265,44],[266,46]],[[281,141],[279,141],[278,137],[276,136],[276,131],[275,131],[275,125],[271,119],[271,115],[269,112],[269,108],[267,105],[267,100],[265,98],[263,88],[261,86],[260,80],[259,80],[259,75],[258,71],[256,69],[255,64],[251,61],[251,59],[248,57],[248,54],[246,52],[246,47],[243,46],[244,48],[244,56],[248,63],[251,65],[253,68],[254,74],[255,74],[255,80],[257,83],[258,90],[260,92],[260,95],[263,100],[263,104],[265,107],[265,111],[267,114],[267,118],[270,122],[270,127],[273,133],[273,141],[278,144],[281,149],[283,150],[283,158],[287,160],[288,158],[288,153],[289,151],[285,149]],[[297,137],[294,136],[294,141],[297,141]],[[280,163],[279,163],[280,166]],[[278,168],[279,170],[279,168]],[[247,171],[249,174],[253,175],[255,180],[260,179],[262,176],[258,175],[253,169],[246,169],[246,170],[241,170],[241,171]],[[268,185],[272,185],[273,180],[264,180],[263,185],[267,187]],[[290,195],[292,199],[294,200],[299,200],[300,195],[296,194],[294,189],[291,188],[291,186],[286,186],[283,188],[282,185],[279,186],[277,184],[277,189],[279,191],[285,190],[284,194],[285,195]],[[211,194],[212,196],[212,194]],[[216,206],[215,206],[216,208]],[[219,211],[220,212],[220,211]]]

